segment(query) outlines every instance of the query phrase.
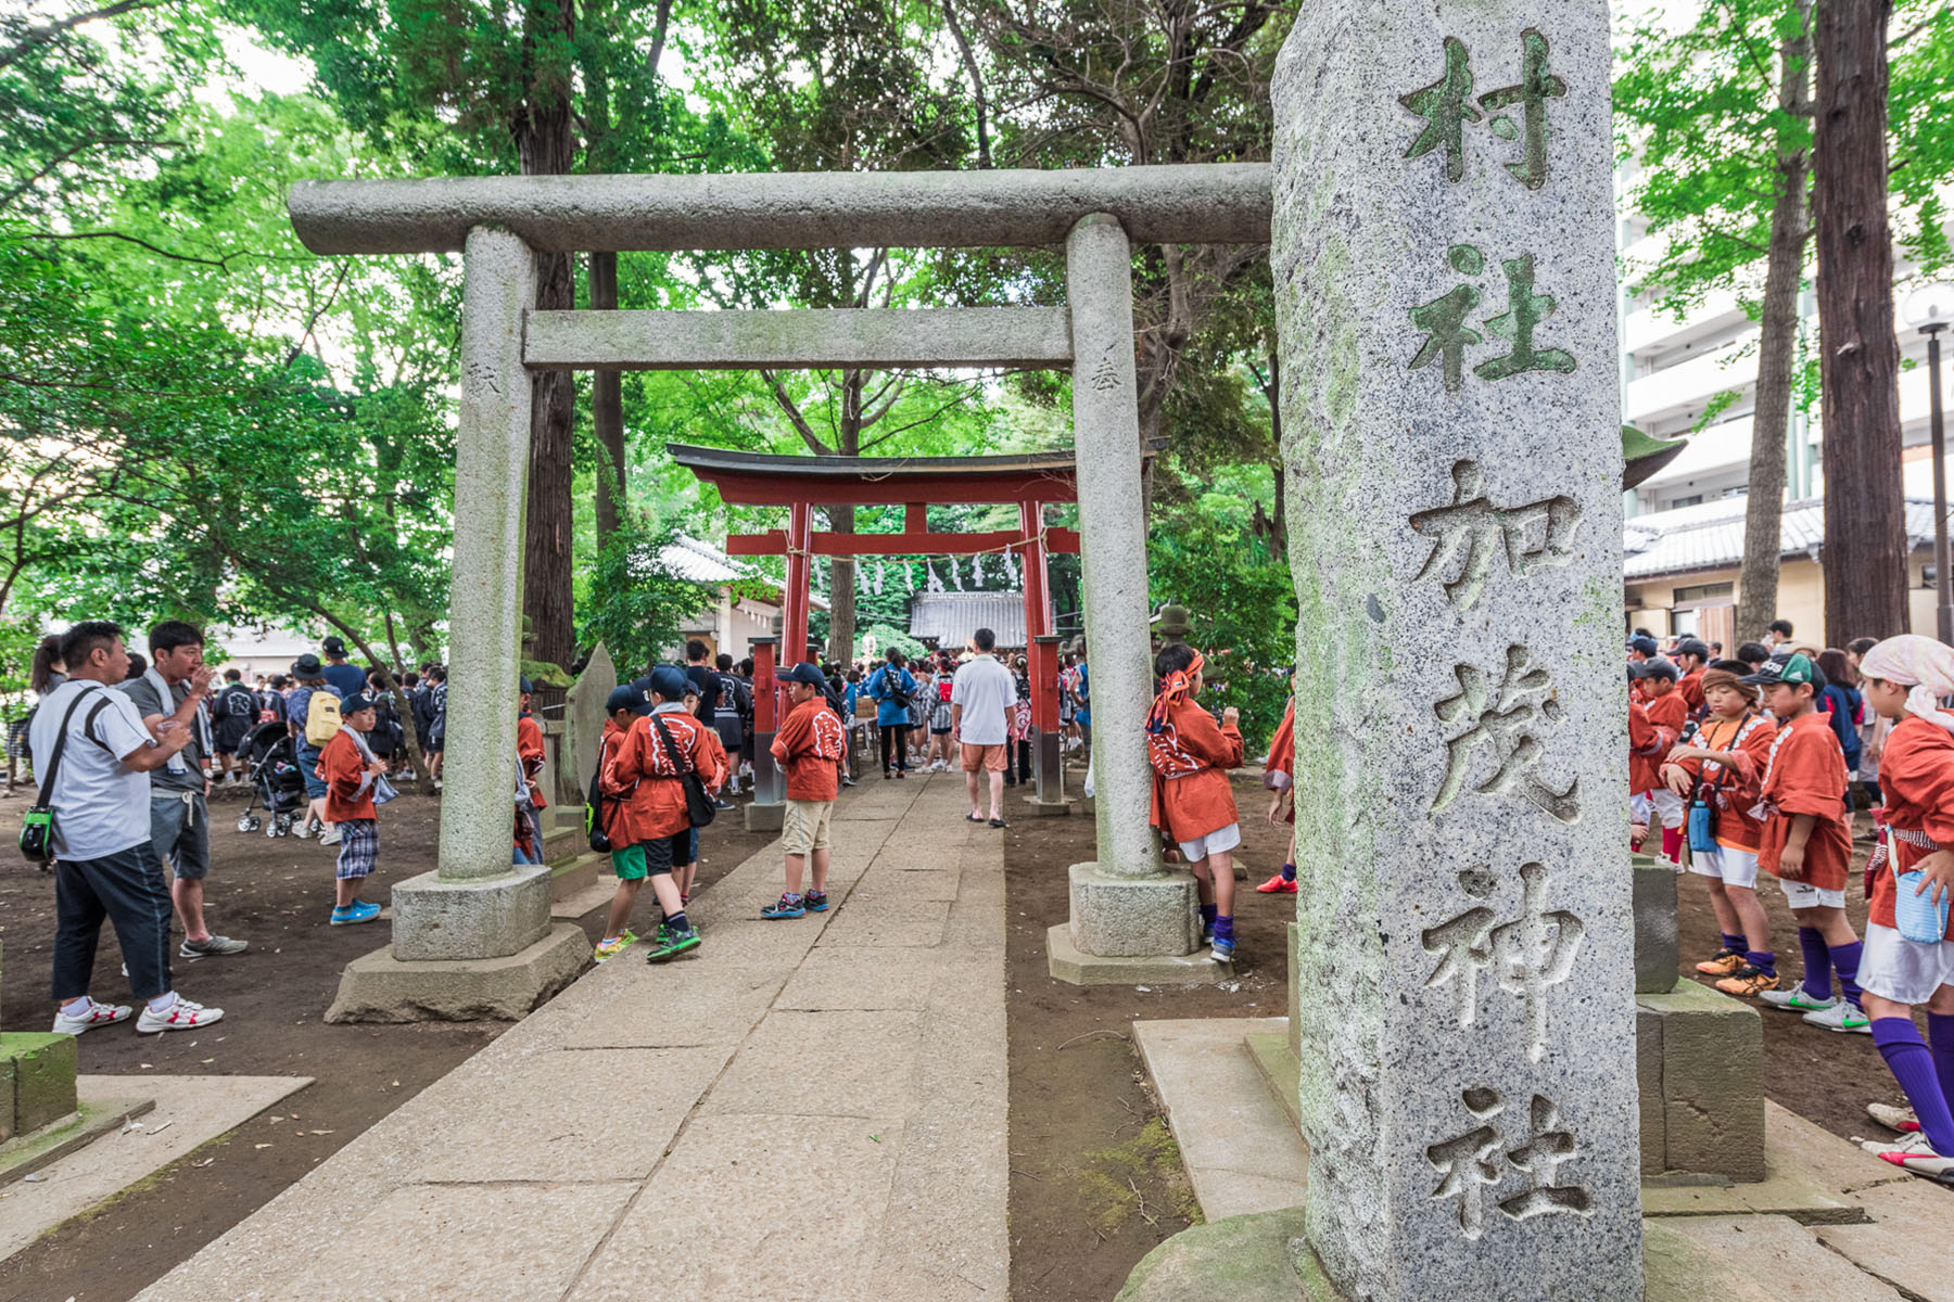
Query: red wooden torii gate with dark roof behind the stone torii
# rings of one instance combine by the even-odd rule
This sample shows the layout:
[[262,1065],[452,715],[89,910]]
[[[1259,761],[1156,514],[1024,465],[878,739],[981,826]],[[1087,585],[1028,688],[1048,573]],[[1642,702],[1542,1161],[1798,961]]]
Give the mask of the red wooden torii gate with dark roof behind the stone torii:
[[[1073,529],[1047,527],[1043,508],[1079,500],[1073,455],[1006,457],[776,457],[719,447],[668,443],[672,461],[719,490],[723,502],[784,506],[787,527],[731,535],[731,556],[786,556],[782,654],[807,656],[809,580],[815,556],[967,556],[1016,550],[1024,556],[1024,636],[1032,675],[1032,726],[1059,728],[1059,652],[1053,636],[1045,556],[1077,552]],[[1016,504],[1018,527],[991,533],[930,533],[928,508],[942,504]],[[817,506],[901,506],[901,533],[815,533]],[[754,732],[772,734],[778,720],[772,648],[754,656]],[[1041,752],[1043,748],[1040,748]],[[764,753],[766,748],[756,748]],[[1040,763],[1040,793],[1045,791]]]

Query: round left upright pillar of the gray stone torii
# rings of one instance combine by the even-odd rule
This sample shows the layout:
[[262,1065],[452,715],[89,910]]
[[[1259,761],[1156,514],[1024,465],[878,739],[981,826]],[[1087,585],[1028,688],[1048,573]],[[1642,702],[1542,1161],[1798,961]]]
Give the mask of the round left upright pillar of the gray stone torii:
[[463,252],[461,410],[455,422],[455,562],[447,599],[447,753],[442,880],[508,876],[522,675],[524,484],[530,373],[522,314],[535,301],[530,248],[477,226]]

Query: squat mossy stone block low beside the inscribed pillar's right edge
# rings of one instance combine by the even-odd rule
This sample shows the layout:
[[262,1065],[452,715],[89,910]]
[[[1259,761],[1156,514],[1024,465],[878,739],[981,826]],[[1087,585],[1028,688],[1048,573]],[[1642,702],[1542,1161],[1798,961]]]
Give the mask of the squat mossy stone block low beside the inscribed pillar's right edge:
[[1641,1175],[1764,1179],[1764,1021],[1696,982],[1635,997]]

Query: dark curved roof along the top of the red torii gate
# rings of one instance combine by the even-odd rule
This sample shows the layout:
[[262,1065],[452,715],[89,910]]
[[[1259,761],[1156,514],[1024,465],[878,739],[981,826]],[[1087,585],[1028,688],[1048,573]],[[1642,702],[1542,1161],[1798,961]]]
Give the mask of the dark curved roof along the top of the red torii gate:
[[[893,506],[905,502],[1073,502],[1079,467],[1069,451],[998,457],[780,457],[666,443],[672,461],[719,488],[727,502]],[[1149,449],[1149,457],[1157,449]]]

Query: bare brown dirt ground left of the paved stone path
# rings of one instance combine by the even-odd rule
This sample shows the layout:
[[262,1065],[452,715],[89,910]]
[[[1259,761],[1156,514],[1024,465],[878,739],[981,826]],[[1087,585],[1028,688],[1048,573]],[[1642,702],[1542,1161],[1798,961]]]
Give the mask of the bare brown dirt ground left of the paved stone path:
[[[440,804],[406,787],[381,810],[381,861],[365,898],[385,904],[393,882],[434,869]],[[440,1079],[506,1031],[506,1023],[334,1027],[320,1021],[340,970],[387,943],[387,923],[332,927],[336,849],[295,837],[236,832],[242,793],[219,793],[211,810],[207,919],[213,931],[250,941],[236,958],[176,962],[190,997],[225,1009],[207,1033],[137,1037],[111,1027],[80,1037],[80,1068],[143,1076],[311,1076],[315,1083],[191,1158],[164,1167],[92,1216],[43,1236],[0,1263],[10,1302],[121,1302],[207,1241],[272,1200],[338,1148]],[[0,845],[20,832],[25,789],[0,798]],[[770,835],[748,835],[721,816],[701,843],[700,882],[709,888]],[[47,1031],[55,933],[53,876],[18,855],[0,855],[0,1007],[4,1029]],[[655,908],[641,904],[643,908]],[[582,925],[602,927],[600,912]],[[639,927],[643,931],[643,927]],[[94,994],[129,1001],[113,927],[104,927]],[[268,1144],[260,1148],[260,1144]],[[209,1165],[195,1165],[209,1160]],[[4,1214],[0,1191],[0,1214]]]

